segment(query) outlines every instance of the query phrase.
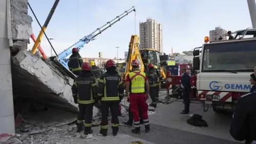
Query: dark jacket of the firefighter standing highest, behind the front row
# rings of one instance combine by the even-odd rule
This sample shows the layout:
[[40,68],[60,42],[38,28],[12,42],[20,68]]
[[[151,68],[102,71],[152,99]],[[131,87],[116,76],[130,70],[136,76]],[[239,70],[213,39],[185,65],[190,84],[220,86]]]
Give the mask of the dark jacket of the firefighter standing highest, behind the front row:
[[70,71],[77,71],[77,70],[81,70],[81,65],[82,65],[83,61],[81,56],[77,53],[77,54],[72,54],[69,57],[69,62],[68,62],[68,66],[69,66],[69,70]]

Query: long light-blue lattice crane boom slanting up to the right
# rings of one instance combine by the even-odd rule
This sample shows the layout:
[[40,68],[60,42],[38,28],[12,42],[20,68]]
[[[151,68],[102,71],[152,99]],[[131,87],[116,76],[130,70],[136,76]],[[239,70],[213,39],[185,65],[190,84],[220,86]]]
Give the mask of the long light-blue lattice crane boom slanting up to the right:
[[67,56],[69,56],[70,54],[72,54],[73,47],[76,47],[78,49],[78,51],[81,50],[84,44],[89,43],[90,41],[94,40],[94,38],[97,35],[101,34],[103,31],[105,31],[106,29],[110,28],[114,23],[116,23],[117,21],[119,21],[124,16],[128,15],[129,13],[131,13],[132,11],[136,11],[134,6],[131,9],[129,9],[129,10],[125,11],[124,13],[122,13],[121,15],[117,16],[113,20],[107,22],[104,26],[102,26],[101,28],[98,28],[96,31],[94,31],[90,35],[84,36],[78,42],[76,42],[75,44],[70,46],[68,49],[66,49],[65,51],[63,51],[60,54],[58,54],[58,60],[60,61],[60,63],[63,64],[66,68],[68,68],[68,64],[67,64],[67,62],[64,59]]

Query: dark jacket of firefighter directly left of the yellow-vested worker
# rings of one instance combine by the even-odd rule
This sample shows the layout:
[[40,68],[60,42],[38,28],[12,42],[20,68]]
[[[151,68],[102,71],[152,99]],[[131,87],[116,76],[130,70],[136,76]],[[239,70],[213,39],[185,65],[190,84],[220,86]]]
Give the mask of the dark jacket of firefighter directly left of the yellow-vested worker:
[[117,71],[104,73],[99,79],[98,97],[103,102],[116,102],[123,98],[123,82]]

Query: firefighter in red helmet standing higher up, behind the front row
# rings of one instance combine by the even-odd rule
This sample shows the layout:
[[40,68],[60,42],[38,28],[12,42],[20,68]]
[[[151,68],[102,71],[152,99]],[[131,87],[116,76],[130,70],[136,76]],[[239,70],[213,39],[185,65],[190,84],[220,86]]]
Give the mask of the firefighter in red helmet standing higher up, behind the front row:
[[81,56],[78,53],[78,49],[74,47],[72,49],[72,55],[69,57],[69,62],[68,62],[69,70],[76,76],[79,76],[79,74],[81,73],[82,63],[83,61]]

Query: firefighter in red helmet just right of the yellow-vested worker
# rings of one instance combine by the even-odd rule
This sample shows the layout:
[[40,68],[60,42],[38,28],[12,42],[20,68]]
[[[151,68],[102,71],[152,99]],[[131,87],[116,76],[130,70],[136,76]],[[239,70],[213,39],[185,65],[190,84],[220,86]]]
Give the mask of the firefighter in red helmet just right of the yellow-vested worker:
[[152,63],[147,65],[148,68],[148,84],[150,84],[150,98],[152,103],[150,104],[151,107],[157,107],[157,100],[156,100],[156,84],[157,84],[157,74],[154,69],[154,65]]

